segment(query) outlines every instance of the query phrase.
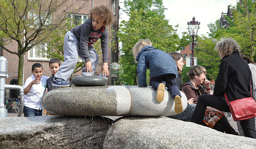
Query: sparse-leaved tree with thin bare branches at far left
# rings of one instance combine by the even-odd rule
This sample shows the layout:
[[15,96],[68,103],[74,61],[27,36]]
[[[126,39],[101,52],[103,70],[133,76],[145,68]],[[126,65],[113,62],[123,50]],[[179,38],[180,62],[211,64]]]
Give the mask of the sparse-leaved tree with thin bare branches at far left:
[[[23,85],[24,54],[63,29],[67,13],[76,13],[87,0],[0,0],[0,46],[19,57],[18,85]],[[8,49],[16,44],[17,50]]]

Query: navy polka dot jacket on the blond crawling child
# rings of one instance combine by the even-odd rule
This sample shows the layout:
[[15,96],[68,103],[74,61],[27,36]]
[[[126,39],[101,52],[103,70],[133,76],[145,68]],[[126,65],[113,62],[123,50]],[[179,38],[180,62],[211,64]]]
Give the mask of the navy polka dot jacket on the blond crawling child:
[[166,52],[153,46],[144,46],[138,53],[137,75],[140,87],[146,84],[146,69],[150,69],[150,78],[163,74],[175,74],[177,78],[177,65],[175,60]]

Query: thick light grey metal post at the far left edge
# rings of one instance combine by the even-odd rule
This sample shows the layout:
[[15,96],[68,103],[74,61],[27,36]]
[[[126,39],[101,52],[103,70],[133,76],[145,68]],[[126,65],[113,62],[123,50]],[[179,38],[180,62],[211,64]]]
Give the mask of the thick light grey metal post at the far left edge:
[[7,73],[7,59],[3,56],[0,57],[0,118],[8,117],[7,109],[4,105],[4,95],[5,95],[5,80],[8,77]]

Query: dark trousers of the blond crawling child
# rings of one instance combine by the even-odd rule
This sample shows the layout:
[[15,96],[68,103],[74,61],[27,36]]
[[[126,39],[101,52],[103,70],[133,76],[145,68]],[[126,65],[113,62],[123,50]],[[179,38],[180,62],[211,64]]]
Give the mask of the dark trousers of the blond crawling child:
[[179,87],[176,83],[176,75],[175,74],[163,74],[159,77],[153,77],[150,79],[150,85],[153,87],[154,90],[157,90],[157,87],[162,81],[166,82],[167,90],[172,94],[173,99],[176,95],[180,95]]

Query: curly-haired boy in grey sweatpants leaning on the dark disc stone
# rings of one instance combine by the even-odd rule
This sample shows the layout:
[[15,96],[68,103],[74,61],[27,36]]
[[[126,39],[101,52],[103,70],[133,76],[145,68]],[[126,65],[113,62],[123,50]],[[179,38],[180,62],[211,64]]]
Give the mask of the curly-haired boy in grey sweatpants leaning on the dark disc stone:
[[64,63],[54,75],[52,86],[70,86],[67,79],[75,69],[78,56],[84,61],[82,75],[92,76],[98,65],[99,55],[93,48],[99,38],[101,39],[103,76],[108,72],[108,26],[112,23],[113,14],[107,6],[97,6],[90,11],[90,18],[85,23],[74,27],[67,32],[64,38]]

